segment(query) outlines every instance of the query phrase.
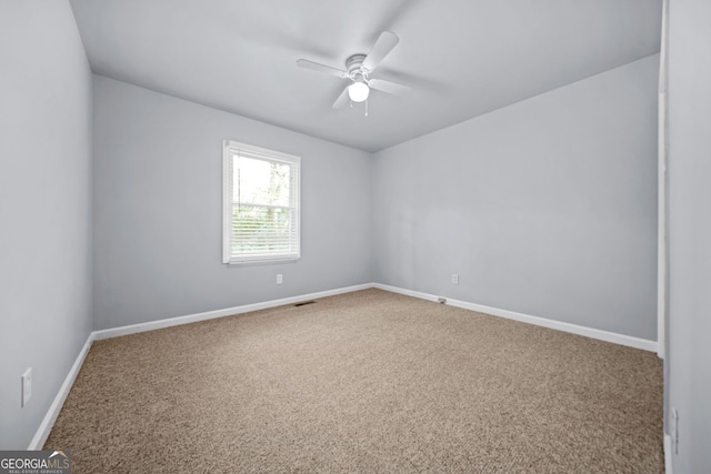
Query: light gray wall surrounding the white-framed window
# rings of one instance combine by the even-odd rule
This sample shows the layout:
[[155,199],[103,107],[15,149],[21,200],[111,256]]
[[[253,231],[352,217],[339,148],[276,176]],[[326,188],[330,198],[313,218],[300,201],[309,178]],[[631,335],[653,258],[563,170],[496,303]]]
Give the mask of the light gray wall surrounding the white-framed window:
[[[301,157],[298,262],[221,263],[226,139]],[[93,153],[97,330],[371,281],[370,153],[101,75]]]

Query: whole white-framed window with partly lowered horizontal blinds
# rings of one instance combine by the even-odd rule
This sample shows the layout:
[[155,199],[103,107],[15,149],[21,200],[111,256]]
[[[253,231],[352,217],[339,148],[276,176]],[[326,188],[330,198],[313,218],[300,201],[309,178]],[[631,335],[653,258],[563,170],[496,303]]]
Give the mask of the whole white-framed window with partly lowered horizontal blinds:
[[299,259],[301,159],[227,140],[222,159],[223,263]]

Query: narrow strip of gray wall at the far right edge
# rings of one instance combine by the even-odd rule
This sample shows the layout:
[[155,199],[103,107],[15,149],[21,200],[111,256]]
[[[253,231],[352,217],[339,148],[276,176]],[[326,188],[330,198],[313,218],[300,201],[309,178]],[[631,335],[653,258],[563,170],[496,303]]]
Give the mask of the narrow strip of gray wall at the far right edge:
[[673,0],[669,20],[667,383],[674,474],[695,474],[711,468],[711,2]]

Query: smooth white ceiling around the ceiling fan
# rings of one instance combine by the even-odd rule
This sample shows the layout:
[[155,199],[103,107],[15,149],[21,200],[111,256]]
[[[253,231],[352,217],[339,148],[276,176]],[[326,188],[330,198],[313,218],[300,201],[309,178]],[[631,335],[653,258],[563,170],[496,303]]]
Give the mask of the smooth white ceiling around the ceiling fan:
[[[661,0],[71,0],[94,72],[365,151],[659,52]],[[372,77],[412,87],[332,110],[344,69],[390,30]]]

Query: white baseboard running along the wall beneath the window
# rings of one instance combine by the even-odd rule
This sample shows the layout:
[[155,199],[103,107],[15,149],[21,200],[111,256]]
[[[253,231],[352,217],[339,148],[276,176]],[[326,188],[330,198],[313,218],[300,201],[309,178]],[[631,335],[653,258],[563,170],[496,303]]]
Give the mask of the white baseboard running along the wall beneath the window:
[[321,291],[318,293],[302,294],[299,296],[283,297],[281,300],[266,301],[262,303],[244,304],[242,306],[226,307],[223,310],[207,311],[204,313],[189,314],[186,316],[168,317],[164,320],[149,321],[147,323],[129,324],[126,326],[111,327],[108,330],[94,331],[97,341],[120,335],[136,334],[139,332],[154,331],[163,327],[178,326],[181,324],[197,323],[199,321],[214,320],[217,317],[231,316],[233,314],[249,313],[251,311],[267,310],[269,307],[283,306],[284,304],[293,304],[304,300],[316,300],[319,297],[333,296],[353,291],[367,290],[373,288],[372,283],[365,283],[354,286],[339,288],[334,290]]

